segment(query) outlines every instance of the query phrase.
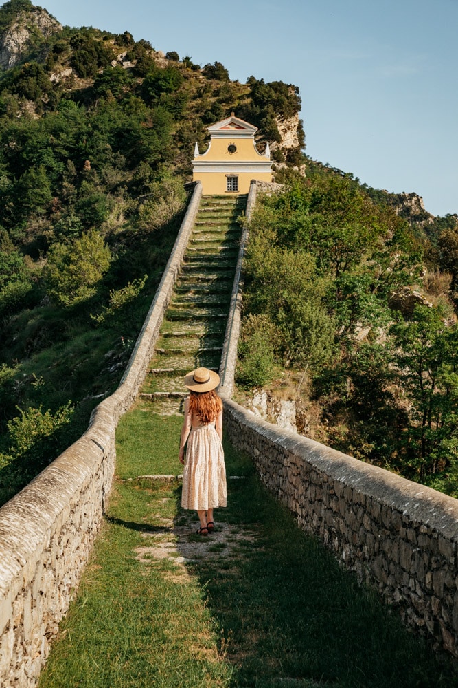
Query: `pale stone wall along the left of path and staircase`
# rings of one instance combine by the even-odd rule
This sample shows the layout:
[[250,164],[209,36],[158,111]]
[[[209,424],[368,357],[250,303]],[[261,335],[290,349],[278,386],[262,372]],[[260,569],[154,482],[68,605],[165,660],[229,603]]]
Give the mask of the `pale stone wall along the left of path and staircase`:
[[36,685],[100,527],[115,469],[115,429],[143,383],[201,200],[196,184],[118,389],[86,433],[0,508],[0,685]]

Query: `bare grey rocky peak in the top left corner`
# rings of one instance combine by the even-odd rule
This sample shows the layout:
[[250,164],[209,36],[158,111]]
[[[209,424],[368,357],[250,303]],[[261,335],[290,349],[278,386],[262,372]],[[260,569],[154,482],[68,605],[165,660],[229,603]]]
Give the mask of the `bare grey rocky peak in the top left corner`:
[[31,6],[30,10],[19,12],[10,28],[0,36],[0,67],[10,69],[19,64],[33,34],[39,32],[47,38],[57,31],[62,31],[62,24],[46,10]]

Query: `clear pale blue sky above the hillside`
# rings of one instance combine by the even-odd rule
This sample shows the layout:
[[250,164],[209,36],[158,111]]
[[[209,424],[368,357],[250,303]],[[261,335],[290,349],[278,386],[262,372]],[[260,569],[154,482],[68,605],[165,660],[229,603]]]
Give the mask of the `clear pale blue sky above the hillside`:
[[299,86],[306,151],[458,213],[458,0],[41,0],[63,24]]

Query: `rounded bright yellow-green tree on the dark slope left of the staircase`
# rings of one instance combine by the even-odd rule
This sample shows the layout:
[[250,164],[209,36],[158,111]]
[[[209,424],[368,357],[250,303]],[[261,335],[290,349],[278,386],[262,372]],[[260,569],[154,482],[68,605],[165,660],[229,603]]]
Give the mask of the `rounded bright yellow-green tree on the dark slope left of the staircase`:
[[111,264],[103,238],[89,231],[73,243],[54,244],[45,267],[49,297],[64,308],[87,301]]

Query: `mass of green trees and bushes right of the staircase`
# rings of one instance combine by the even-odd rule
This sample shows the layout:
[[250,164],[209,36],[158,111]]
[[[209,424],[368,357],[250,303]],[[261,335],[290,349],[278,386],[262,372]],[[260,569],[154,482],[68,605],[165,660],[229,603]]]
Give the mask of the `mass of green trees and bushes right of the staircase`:
[[[321,438],[413,480],[437,475],[435,484],[453,491],[453,274],[425,274],[404,219],[389,204],[374,204],[352,175],[323,167],[312,166],[306,180],[287,174],[282,193],[260,200],[249,229],[247,316],[266,316],[278,328],[277,365],[308,372],[328,420]],[[441,235],[444,268],[452,273],[453,231]],[[439,305],[419,306],[404,321],[391,310],[391,295],[420,275]],[[255,328],[247,332],[241,362],[244,349],[257,345]]]

